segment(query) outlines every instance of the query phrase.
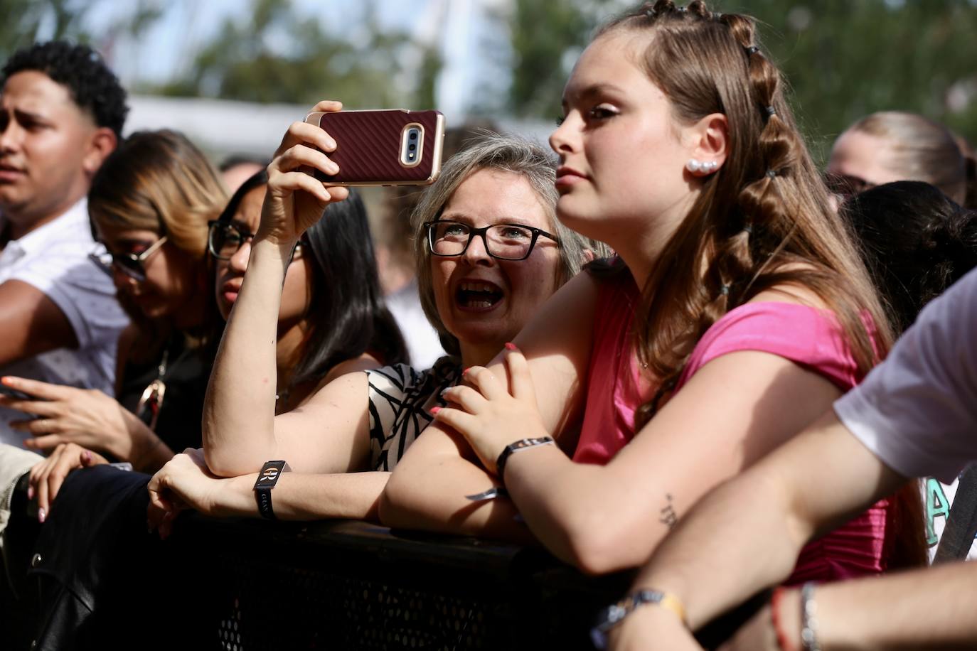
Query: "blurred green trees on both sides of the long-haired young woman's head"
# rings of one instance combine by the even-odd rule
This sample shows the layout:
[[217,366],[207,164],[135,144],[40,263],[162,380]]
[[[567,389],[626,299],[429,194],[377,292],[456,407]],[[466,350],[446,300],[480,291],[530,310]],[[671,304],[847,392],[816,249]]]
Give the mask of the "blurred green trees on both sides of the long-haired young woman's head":
[[[974,0],[729,0],[723,12],[761,20],[762,43],[790,85],[816,157],[859,117],[901,109],[977,138]],[[514,0],[509,104],[523,116],[559,111],[563,84],[615,0]]]

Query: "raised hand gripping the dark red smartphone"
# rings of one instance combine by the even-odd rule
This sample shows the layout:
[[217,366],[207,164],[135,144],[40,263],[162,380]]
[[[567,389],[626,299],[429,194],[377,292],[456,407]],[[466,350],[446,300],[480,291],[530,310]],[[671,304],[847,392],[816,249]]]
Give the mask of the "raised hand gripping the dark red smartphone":
[[[338,111],[342,107],[342,102],[323,100],[312,110]],[[261,211],[259,237],[290,251],[302,233],[319,221],[327,205],[349,195],[345,187],[327,188],[302,170],[315,168],[324,174],[336,174],[339,166],[323,153],[335,148],[336,142],[319,126],[292,123],[268,166],[268,194]]]

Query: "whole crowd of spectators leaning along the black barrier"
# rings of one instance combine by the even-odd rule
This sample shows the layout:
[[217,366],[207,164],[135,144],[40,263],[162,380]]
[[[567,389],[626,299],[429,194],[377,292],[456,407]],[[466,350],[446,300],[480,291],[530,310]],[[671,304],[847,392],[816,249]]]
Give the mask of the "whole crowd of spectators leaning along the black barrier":
[[640,568],[602,648],[701,648],[768,589],[722,648],[977,645],[977,565],[926,567],[977,555],[977,171],[943,125],[874,113],[819,170],[754,20],[658,0],[580,55],[552,152],[485,132],[391,190],[392,275],[317,125],[218,171],[123,137],[86,46],[0,85],[0,542],[27,481],[47,545],[117,545],[72,513],[117,495],[163,539],[355,518]]

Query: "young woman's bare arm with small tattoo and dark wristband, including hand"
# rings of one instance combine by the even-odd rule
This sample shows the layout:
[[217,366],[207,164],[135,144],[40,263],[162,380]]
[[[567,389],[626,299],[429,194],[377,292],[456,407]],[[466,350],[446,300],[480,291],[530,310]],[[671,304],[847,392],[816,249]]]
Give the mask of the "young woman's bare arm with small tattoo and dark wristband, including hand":
[[[545,433],[533,418],[523,355],[507,355],[512,395],[487,369],[473,369],[474,388],[446,394],[460,409],[438,414],[493,472],[511,438],[506,432],[524,424],[527,436]],[[633,567],[703,493],[778,445],[784,432],[814,420],[838,394],[783,357],[729,353],[696,373],[606,466],[574,464],[539,446],[509,458],[505,484],[547,549],[591,573]]]

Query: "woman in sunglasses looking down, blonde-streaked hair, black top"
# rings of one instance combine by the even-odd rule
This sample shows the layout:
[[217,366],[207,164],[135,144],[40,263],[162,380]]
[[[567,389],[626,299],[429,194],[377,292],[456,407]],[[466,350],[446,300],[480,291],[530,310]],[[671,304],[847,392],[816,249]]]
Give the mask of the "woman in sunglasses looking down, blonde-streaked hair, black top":
[[178,133],[135,133],[106,159],[88,205],[107,250],[92,262],[111,275],[132,321],[119,340],[116,396],[3,379],[33,398],[7,405],[31,417],[12,424],[27,447],[76,444],[45,466],[101,459],[90,450],[152,471],[199,440],[207,335],[220,320],[207,289],[207,222],[226,201],[207,159]]

